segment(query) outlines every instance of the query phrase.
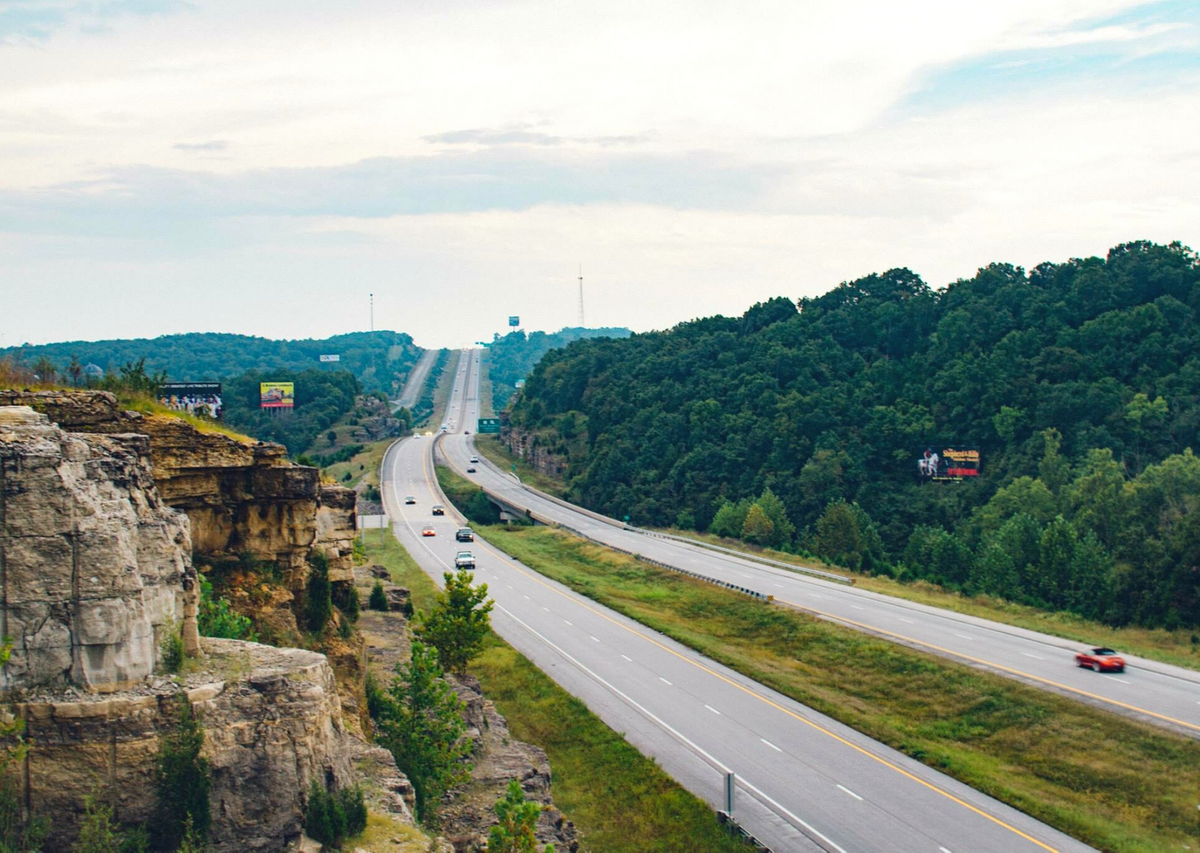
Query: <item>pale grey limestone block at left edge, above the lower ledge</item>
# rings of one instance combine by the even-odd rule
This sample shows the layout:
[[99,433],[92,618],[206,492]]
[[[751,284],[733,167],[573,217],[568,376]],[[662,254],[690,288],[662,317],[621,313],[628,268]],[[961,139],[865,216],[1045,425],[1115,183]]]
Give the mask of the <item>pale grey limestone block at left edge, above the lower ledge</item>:
[[190,570],[187,517],[155,489],[143,435],[66,433],[0,408],[5,696],[132,686],[154,672]]

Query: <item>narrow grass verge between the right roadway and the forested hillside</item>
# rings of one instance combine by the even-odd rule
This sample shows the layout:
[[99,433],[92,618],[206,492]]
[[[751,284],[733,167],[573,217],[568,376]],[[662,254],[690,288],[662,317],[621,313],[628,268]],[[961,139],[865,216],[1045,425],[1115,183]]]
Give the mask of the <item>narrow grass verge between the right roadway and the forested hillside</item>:
[[[540,488],[540,486],[539,486]],[[941,607],[942,609],[965,613],[967,615],[991,619],[992,621],[1040,631],[1063,639],[1072,639],[1084,645],[1108,645],[1128,654],[1140,655],[1150,660],[1174,663],[1190,669],[1200,669],[1200,631],[1180,629],[1166,631],[1148,627],[1112,627],[1093,619],[1085,619],[1074,613],[1051,612],[1018,605],[1004,599],[989,595],[962,595],[925,581],[900,583],[890,577],[874,577],[847,571],[841,566],[828,565],[821,560],[808,559],[770,548],[758,548],[734,539],[722,539],[694,530],[664,530],[677,536],[685,536],[702,542],[720,545],[732,551],[766,557],[780,563],[834,571],[854,578],[854,585],[872,593],[906,599],[922,605]]]

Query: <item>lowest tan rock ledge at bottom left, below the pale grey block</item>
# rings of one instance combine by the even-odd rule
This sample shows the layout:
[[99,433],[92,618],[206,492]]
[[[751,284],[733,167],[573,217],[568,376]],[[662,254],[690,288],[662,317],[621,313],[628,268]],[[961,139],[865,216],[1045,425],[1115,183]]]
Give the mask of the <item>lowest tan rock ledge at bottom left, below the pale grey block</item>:
[[37,691],[14,705],[36,743],[22,792],[52,818],[47,849],[70,849],[84,797],[100,792],[125,823],[155,809],[160,738],[190,702],[211,767],[215,852],[282,851],[300,837],[310,781],[350,783],[353,741],[342,727],[324,655],[204,639],[202,671],[103,698]]

